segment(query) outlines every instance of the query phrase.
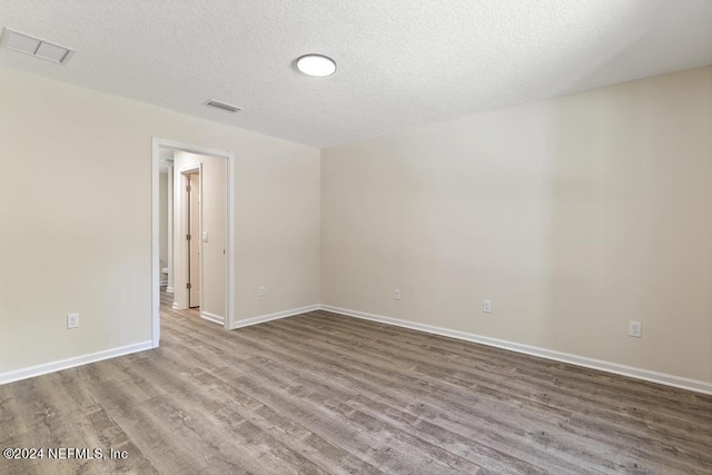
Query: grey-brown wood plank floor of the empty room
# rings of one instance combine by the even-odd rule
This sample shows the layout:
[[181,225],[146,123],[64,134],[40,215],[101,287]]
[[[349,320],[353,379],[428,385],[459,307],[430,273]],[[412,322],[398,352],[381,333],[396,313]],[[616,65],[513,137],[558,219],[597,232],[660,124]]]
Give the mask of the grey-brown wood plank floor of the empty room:
[[161,331],[0,386],[0,448],[44,447],[0,474],[712,474],[710,396],[326,311]]

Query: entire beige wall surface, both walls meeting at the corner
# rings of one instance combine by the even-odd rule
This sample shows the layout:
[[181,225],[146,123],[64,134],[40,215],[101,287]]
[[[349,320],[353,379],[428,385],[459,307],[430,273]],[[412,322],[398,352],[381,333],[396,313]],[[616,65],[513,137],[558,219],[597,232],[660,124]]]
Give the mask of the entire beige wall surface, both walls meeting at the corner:
[[237,320],[320,301],[712,382],[712,68],[322,160],[13,70],[0,83],[0,374],[150,339],[158,137],[235,152]]

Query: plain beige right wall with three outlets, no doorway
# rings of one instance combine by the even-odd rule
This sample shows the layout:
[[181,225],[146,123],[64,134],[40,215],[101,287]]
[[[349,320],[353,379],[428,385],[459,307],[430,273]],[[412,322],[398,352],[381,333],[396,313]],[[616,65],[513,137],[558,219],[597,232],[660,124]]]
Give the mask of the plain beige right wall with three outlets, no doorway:
[[334,147],[320,300],[712,382],[711,210],[710,67]]

